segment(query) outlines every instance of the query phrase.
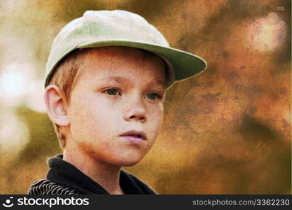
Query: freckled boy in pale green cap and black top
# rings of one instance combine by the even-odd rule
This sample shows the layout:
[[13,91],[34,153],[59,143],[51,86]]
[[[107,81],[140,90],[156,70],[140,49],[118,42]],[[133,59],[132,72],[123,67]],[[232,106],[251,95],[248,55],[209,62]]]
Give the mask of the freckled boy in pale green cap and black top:
[[155,194],[121,167],[153,146],[165,90],[206,67],[134,13],[87,11],[70,22],[55,38],[45,82],[63,155],[48,160],[29,194]]

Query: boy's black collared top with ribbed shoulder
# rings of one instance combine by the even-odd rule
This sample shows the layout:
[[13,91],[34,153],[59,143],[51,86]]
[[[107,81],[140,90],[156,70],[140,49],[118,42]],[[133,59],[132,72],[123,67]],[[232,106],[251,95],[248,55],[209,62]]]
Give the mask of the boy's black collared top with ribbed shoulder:
[[[46,179],[36,181],[30,186],[29,194],[34,195],[71,195],[107,194],[98,183],[83,174],[79,169],[64,161],[63,155],[48,160],[50,170]],[[120,170],[120,187],[125,194],[156,194],[134,175]]]

